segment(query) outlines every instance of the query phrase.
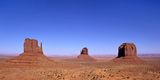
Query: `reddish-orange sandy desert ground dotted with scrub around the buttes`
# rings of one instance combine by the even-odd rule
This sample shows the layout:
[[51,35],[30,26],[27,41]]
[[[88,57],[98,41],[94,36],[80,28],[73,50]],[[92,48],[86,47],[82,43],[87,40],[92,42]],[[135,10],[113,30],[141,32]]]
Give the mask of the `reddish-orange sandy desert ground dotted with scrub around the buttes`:
[[141,56],[143,63],[117,63],[113,56],[94,58],[96,62],[50,57],[52,66],[28,66],[1,57],[0,80],[160,80],[160,56]]

